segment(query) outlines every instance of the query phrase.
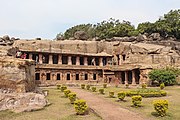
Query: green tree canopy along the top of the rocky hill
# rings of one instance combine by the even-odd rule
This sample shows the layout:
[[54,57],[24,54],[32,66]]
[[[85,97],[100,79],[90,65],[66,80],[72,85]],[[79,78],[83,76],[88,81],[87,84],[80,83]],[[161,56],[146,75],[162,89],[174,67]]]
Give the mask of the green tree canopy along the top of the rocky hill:
[[[139,23],[135,28],[131,22],[110,18],[97,24],[80,24],[71,27],[65,31],[63,35],[65,39],[74,36],[75,32],[84,31],[89,38],[98,37],[100,39],[112,37],[137,36],[138,34],[159,33],[162,37],[175,37],[180,39],[180,9],[171,10],[163,17],[160,17],[154,23]],[[56,37],[58,37],[58,35]]]

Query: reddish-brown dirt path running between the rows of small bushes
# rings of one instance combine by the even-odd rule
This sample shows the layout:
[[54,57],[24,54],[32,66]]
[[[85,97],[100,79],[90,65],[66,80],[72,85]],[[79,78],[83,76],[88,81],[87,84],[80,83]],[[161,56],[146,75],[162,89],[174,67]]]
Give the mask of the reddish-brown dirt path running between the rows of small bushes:
[[69,88],[77,93],[77,97],[87,101],[92,108],[103,120],[144,120],[139,114],[121,108],[116,103],[103,99],[101,96],[94,95],[91,92]]

